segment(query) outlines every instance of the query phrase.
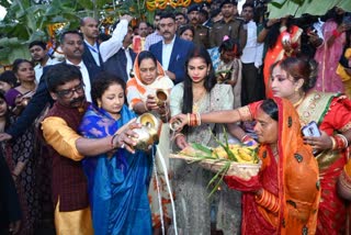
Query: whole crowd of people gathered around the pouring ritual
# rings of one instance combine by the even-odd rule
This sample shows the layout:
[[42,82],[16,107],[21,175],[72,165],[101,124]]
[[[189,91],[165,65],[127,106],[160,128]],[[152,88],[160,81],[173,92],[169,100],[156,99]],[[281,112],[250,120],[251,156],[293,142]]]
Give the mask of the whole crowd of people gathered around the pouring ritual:
[[[64,60],[32,42],[0,75],[0,234],[351,231],[351,13],[265,15],[194,3],[103,37],[86,16],[59,35]],[[161,123],[148,150],[145,113]],[[169,156],[225,139],[262,165],[208,198],[216,174]]]

